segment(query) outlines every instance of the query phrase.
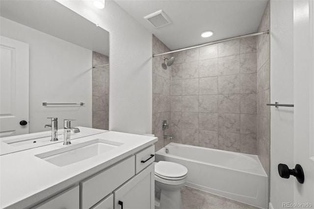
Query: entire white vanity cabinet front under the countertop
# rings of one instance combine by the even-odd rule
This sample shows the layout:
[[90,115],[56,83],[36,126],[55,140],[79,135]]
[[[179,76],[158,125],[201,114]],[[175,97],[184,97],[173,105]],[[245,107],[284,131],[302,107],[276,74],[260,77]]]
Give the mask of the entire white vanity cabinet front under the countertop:
[[32,209],[155,209],[154,160],[152,145],[79,180]]

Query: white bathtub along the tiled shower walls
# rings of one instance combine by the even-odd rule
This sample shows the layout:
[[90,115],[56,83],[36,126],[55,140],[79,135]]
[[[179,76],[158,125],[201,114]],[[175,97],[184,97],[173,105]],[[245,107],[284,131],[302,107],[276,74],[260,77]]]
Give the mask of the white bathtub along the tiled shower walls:
[[255,155],[170,143],[155,156],[184,165],[187,186],[267,209],[267,175]]

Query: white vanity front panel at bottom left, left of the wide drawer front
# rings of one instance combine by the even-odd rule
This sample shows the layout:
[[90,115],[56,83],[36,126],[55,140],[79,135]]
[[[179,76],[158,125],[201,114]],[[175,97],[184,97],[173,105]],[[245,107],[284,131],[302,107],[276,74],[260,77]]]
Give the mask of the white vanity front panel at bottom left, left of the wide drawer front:
[[67,189],[32,209],[78,209],[79,186]]

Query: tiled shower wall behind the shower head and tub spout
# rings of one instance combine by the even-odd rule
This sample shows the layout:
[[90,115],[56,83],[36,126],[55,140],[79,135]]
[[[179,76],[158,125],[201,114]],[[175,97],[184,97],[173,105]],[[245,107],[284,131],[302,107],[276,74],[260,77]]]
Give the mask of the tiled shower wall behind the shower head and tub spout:
[[[169,51],[168,47],[153,35],[153,54]],[[167,120],[169,124],[165,135],[170,135],[171,132],[171,66],[162,65],[163,57],[153,58],[153,134],[158,137],[156,151],[170,142],[163,139],[163,120]],[[171,54],[166,54],[165,57],[170,58]]]

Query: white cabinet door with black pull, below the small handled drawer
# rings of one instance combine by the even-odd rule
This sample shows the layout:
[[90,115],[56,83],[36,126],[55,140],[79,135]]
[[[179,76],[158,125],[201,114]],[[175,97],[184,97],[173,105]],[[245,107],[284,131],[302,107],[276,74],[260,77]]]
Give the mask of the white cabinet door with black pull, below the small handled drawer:
[[154,209],[154,192],[155,165],[152,163],[113,192],[115,209]]

